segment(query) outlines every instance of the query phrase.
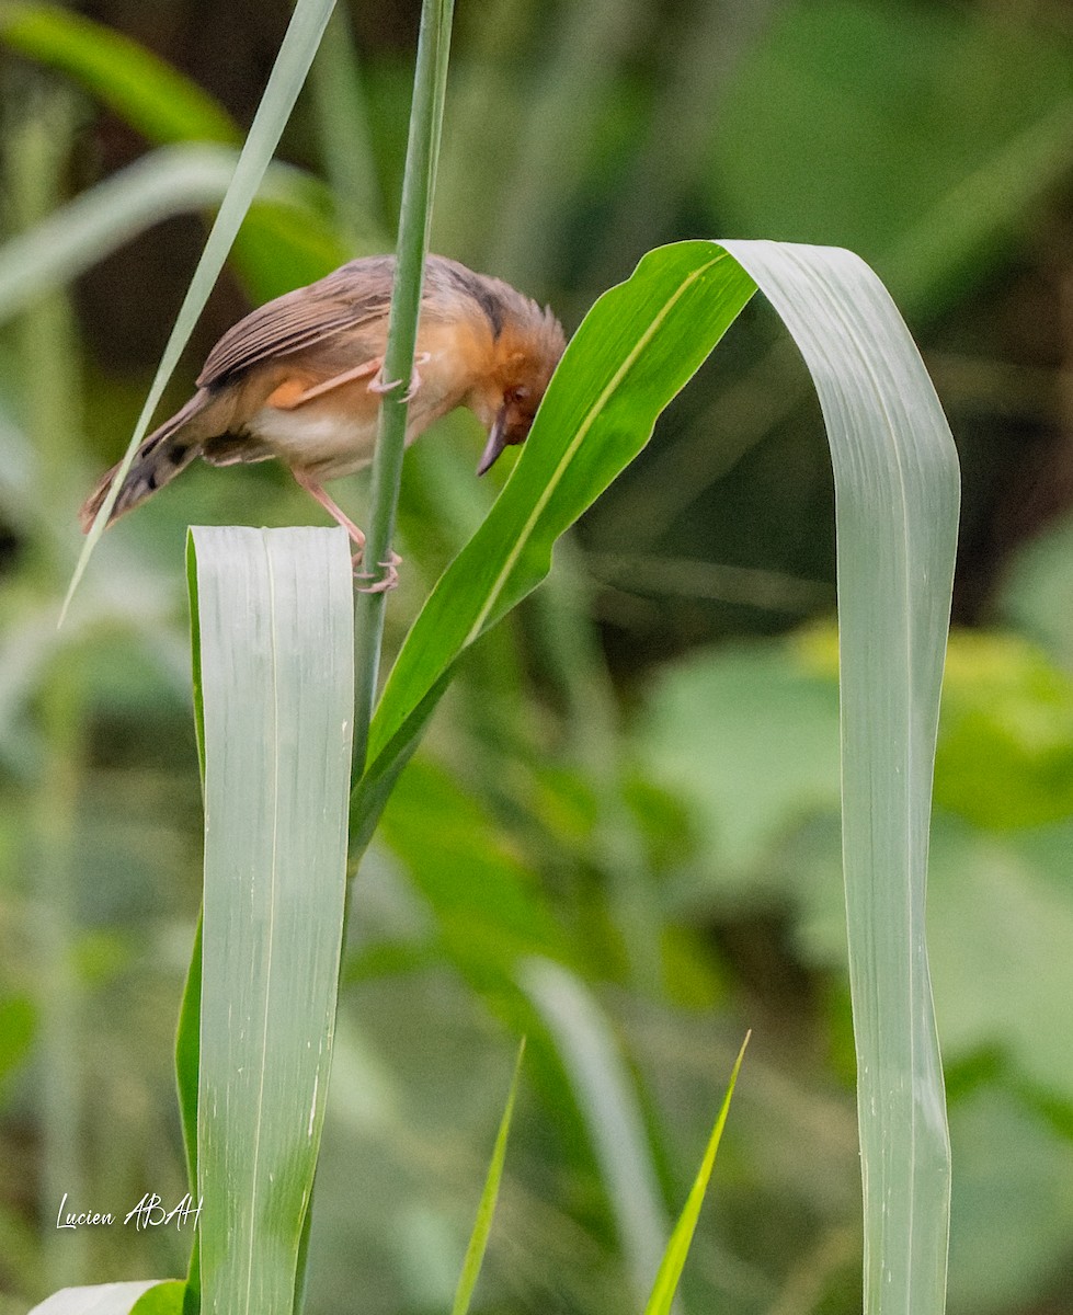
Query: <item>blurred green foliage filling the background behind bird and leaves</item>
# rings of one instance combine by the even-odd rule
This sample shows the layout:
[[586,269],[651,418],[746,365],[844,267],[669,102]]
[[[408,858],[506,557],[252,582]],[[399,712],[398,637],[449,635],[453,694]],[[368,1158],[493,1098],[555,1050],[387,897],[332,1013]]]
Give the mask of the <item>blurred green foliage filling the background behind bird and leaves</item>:
[[[247,224],[200,350],[246,297],[389,245],[412,41],[409,7],[372,8],[352,7],[354,49],[333,29],[287,204]],[[87,62],[63,20],[0,7],[5,237],[153,145],[247,126],[276,11],[217,9],[175,0],[134,26],[101,4],[134,43],[79,24],[105,53]],[[210,85],[164,71],[184,63]],[[333,92],[355,68],[358,93]],[[982,1315],[1073,1311],[1072,70],[1057,3],[460,3],[434,225],[568,327],[648,246],[736,230],[853,246],[923,330],[966,472],[973,630],[951,650],[930,917],[951,1310]],[[130,1208],[184,1190],[171,1034],[201,819],[183,538],[310,509],[272,468],[192,469],[109,533],[54,621],[74,510],[129,435],[199,225],[93,255],[0,337],[0,1311],[185,1261],[181,1235],[51,1224],[63,1191]],[[490,502],[476,451],[455,417],[408,458],[389,647]],[[685,1307],[859,1308],[826,463],[799,364],[750,314],[552,583],[467,659],[363,869],[310,1310],[448,1308],[522,1027],[479,1298],[623,1308],[584,1119],[513,981],[530,953],[610,1019],[668,1206],[755,1030]]]

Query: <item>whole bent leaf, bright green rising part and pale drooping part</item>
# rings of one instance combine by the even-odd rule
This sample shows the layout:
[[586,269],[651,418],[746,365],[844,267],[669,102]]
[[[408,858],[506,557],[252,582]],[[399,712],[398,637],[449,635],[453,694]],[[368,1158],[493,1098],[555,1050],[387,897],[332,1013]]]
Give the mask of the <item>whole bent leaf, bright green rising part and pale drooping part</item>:
[[596,304],[500,500],[391,675],[354,797],[367,835],[458,656],[644,444],[759,285],[813,373],[835,469],[843,814],[865,1186],[865,1310],[940,1315],[949,1145],[924,940],[939,686],[957,538],[949,427],[909,331],[848,251],[685,242]]

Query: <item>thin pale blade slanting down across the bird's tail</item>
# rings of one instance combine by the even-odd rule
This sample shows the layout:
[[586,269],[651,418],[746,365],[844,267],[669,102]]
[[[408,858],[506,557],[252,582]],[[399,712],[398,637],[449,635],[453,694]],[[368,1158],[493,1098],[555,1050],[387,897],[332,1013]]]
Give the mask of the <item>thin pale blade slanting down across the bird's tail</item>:
[[220,206],[216,222],[209,233],[209,239],[205,243],[205,250],[201,252],[201,259],[197,262],[197,268],[191,279],[187,296],[176,316],[175,326],[171,330],[171,337],[164,347],[156,375],[150,385],[149,396],[138,417],[138,423],[134,426],[134,434],[130,438],[118,475],[109,496],[104,500],[97,513],[93,527],[85,538],[85,544],[83,546],[75,573],[67,589],[67,598],[63,605],[64,614],[78,588],[78,583],[85,571],[89,556],[100,535],[104,533],[104,526],[112,514],[112,508],[118,497],[124,476],[134,459],[134,452],[149,431],[153,413],[156,410],[167,381],[179,363],[183,347],[193,331],[197,317],[209,299],[213,284],[224,268],[227,251],[250,208],[250,203],[256,195],[264,171],[268,168],[268,162],[272,158],[284,125],[291,117],[291,110],[301,91],[309,66],[313,62],[313,55],[317,53],[317,45],[320,43],[321,33],[329,20],[333,5],[334,0],[297,0],[295,5],[291,25],[287,29],[287,36],[283,38],[283,46],[268,78],[268,85],[264,89],[252,126],[250,128],[246,145],[242,147],[242,154],[238,158],[234,178]]

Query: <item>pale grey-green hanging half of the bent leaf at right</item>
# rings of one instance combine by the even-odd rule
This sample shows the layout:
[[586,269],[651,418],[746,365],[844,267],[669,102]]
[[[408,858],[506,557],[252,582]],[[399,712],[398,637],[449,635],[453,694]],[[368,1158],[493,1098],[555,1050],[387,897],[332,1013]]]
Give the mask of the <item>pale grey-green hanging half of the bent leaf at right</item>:
[[728,242],[811,371],[831,444],[843,856],[864,1182],[864,1308],[942,1315],[949,1140],[924,939],[957,454],[919,352],[848,251]]

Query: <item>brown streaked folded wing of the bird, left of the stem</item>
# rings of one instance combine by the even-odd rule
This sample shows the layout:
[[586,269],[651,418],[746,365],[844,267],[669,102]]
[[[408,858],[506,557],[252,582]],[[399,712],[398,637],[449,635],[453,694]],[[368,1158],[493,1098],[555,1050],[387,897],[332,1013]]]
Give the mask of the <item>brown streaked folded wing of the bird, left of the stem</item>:
[[394,260],[351,260],[308,288],[296,288],[239,320],[209,352],[199,388],[225,383],[259,362],[323,342],[341,330],[385,318]]

